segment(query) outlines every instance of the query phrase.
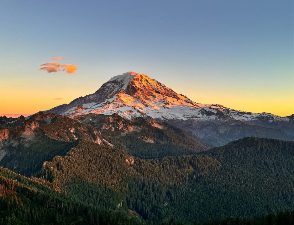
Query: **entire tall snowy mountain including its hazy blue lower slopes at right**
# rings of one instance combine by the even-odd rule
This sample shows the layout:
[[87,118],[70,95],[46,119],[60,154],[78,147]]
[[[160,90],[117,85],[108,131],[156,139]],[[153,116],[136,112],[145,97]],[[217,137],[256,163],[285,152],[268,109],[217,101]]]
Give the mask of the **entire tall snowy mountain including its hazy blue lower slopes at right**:
[[[71,118],[89,113],[116,113],[128,120],[152,117],[178,126],[196,140],[215,146],[246,136],[294,140],[293,115],[280,117],[265,112],[242,112],[223,105],[203,105],[136,72],[117,75],[95,93],[44,113],[58,113]],[[191,123],[194,124],[193,129]],[[207,130],[213,132],[208,133]]]

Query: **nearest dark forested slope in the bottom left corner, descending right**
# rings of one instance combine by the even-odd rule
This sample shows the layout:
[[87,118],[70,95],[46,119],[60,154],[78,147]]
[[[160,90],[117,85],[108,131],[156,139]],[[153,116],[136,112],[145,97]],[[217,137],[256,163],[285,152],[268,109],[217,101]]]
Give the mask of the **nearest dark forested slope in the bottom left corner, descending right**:
[[127,210],[74,201],[43,179],[28,179],[0,167],[0,224],[142,224]]

